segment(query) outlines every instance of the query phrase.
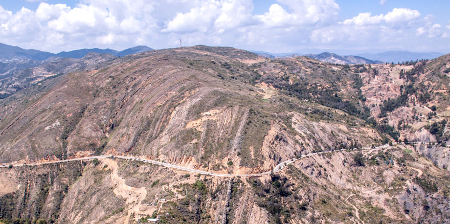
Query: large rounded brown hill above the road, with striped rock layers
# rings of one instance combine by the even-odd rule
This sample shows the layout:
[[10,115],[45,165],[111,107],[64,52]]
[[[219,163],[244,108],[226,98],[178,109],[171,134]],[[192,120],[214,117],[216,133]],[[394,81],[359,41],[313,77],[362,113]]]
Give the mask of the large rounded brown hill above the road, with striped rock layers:
[[[267,171],[295,152],[381,139],[370,128],[355,125],[363,122],[359,118],[315,104],[329,101],[333,91],[325,75],[311,76],[315,62],[246,64],[255,60],[262,59],[246,51],[199,46],[116,59],[100,70],[67,74],[45,94],[29,94],[47,86],[43,82],[5,100],[1,159],[65,158],[79,151],[112,150],[171,161],[188,157],[192,164],[206,167],[232,160],[232,172]],[[323,91],[321,98],[264,98],[251,84],[258,78],[285,85],[290,76],[283,71],[289,69],[301,79],[293,88],[304,88],[303,83],[314,79],[306,88]],[[338,73],[341,80],[355,78],[351,72]],[[310,102],[300,103],[303,100]],[[327,106],[335,103],[340,104]],[[344,112],[363,110],[343,104]],[[32,139],[41,140],[36,144]],[[273,139],[284,148],[275,157]]]

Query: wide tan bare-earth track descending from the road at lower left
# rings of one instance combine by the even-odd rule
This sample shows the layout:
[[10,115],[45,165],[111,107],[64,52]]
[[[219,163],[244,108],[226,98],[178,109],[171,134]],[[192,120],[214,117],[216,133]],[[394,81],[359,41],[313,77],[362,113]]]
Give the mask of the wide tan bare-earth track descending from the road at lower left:
[[118,175],[118,165],[116,161],[108,158],[101,159],[101,161],[108,165],[108,169],[112,169],[111,180],[115,185],[113,190],[114,194],[124,198],[125,203],[128,204],[128,214],[124,224],[128,224],[130,222],[130,217],[133,213],[152,215],[155,209],[150,208],[141,211],[141,208],[145,209],[147,207],[142,204],[142,201],[147,196],[147,190],[145,187],[136,188],[128,186],[125,183],[125,180]]

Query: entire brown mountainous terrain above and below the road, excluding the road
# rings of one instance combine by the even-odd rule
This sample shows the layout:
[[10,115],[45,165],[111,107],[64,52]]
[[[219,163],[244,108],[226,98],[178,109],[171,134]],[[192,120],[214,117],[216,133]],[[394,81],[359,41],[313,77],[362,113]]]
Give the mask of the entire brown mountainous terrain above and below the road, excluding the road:
[[[0,219],[449,222],[449,58],[349,66],[203,45],[91,54],[0,100]],[[394,144],[405,138],[425,144]],[[8,167],[91,155],[237,176],[115,157]]]

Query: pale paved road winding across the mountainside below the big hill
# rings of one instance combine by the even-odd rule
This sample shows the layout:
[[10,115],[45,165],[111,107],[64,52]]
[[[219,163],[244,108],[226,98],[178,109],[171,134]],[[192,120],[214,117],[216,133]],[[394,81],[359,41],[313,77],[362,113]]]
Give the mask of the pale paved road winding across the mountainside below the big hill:
[[[380,149],[380,148],[387,148],[389,147],[389,145],[382,145],[382,146],[377,146],[375,147],[376,149]],[[372,149],[369,147],[364,147],[361,148],[362,150],[367,150],[367,149]],[[275,173],[278,172],[280,170],[282,170],[285,166],[299,160],[305,157],[312,157],[315,155],[319,155],[319,154],[324,154],[324,153],[331,153],[331,152],[341,152],[341,151],[346,151],[348,149],[340,149],[340,150],[328,150],[328,151],[322,151],[322,152],[317,152],[317,153],[309,153],[306,155],[302,155],[299,158],[292,158],[289,160],[286,160],[284,162],[279,163],[278,165],[276,165],[273,170],[268,171],[268,172],[264,172],[264,173],[259,173],[259,174],[220,174],[220,173],[214,173],[214,172],[207,172],[207,171],[203,171],[203,170],[196,170],[196,169],[191,169],[191,168],[187,168],[187,167],[183,167],[183,166],[177,166],[177,165],[173,165],[173,164],[169,164],[169,163],[165,163],[165,162],[159,162],[159,161],[155,161],[155,160],[150,160],[150,159],[143,159],[143,158],[139,158],[139,157],[121,157],[121,156],[93,156],[93,157],[82,157],[82,158],[72,158],[72,159],[65,159],[65,160],[57,160],[57,161],[50,161],[50,162],[38,162],[38,163],[28,163],[28,164],[15,164],[13,165],[13,167],[17,167],[17,166],[36,166],[36,165],[43,165],[43,164],[51,164],[51,163],[62,163],[62,162],[69,162],[69,161],[80,161],[80,160],[89,160],[89,159],[94,159],[94,158],[121,158],[121,159],[131,159],[131,160],[137,160],[137,161],[142,161],[142,162],[146,162],[146,163],[152,163],[152,164],[156,164],[156,165],[161,165],[161,166],[165,166],[168,168],[174,168],[174,169],[179,169],[179,170],[184,170],[184,171],[188,171],[188,172],[192,172],[192,173],[198,173],[198,174],[204,174],[204,175],[210,175],[210,176],[217,176],[217,177],[257,177],[257,176],[263,176],[263,175],[269,175],[270,173]],[[355,149],[351,149],[351,150],[357,150]],[[1,167],[6,167],[6,165],[2,165]]]

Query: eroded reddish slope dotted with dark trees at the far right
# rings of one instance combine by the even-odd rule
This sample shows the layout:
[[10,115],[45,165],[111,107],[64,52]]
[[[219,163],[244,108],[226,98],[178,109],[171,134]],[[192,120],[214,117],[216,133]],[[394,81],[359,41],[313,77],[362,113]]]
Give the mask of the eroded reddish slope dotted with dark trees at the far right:
[[360,67],[365,105],[379,123],[395,128],[401,141],[433,142],[417,147],[436,165],[448,169],[450,142],[450,55],[400,65]]

